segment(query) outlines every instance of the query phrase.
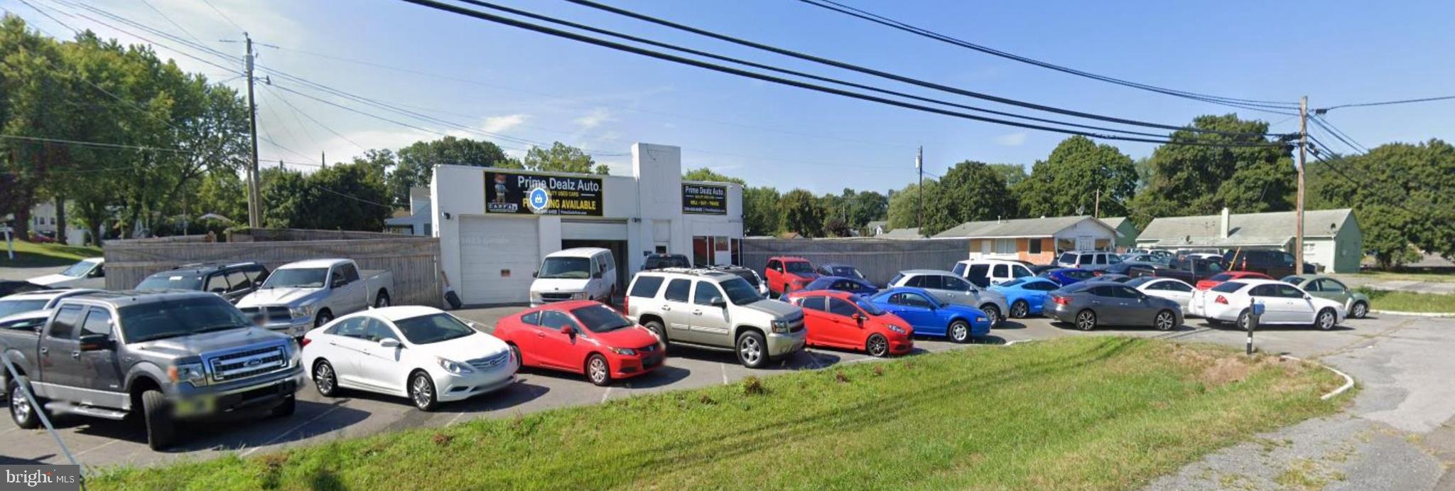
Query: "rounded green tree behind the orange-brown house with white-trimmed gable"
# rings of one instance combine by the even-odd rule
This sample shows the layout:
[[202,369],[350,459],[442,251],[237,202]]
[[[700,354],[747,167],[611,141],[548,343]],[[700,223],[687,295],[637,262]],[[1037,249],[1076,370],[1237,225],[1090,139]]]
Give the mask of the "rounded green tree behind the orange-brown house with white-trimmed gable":
[[1132,157],[1113,146],[1074,135],[1062,140],[1046,160],[1036,162],[1030,176],[1014,192],[1023,216],[1059,217],[1091,214],[1101,195],[1101,216],[1125,216],[1123,203],[1136,189]]

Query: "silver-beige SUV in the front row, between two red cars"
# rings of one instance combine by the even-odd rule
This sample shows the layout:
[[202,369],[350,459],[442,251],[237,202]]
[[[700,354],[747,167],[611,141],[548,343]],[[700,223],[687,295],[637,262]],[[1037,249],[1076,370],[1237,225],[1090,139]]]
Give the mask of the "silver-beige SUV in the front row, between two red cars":
[[758,369],[803,348],[803,309],[764,300],[739,275],[709,270],[666,268],[637,272],[627,287],[627,318],[663,342],[733,350],[738,361]]

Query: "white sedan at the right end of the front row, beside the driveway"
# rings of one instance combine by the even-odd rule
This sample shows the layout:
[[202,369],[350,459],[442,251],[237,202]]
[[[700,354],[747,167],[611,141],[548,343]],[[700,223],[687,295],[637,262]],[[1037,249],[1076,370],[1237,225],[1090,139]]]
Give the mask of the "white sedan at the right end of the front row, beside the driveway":
[[1344,305],[1320,299],[1276,280],[1229,280],[1211,290],[1193,291],[1189,313],[1213,322],[1237,322],[1248,328],[1248,306],[1263,305],[1259,325],[1312,325],[1328,331],[1344,319]]

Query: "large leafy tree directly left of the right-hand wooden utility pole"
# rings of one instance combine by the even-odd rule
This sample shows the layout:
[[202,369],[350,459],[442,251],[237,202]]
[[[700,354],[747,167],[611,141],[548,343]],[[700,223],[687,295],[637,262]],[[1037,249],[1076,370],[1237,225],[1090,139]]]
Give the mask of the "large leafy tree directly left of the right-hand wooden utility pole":
[[[1173,141],[1200,143],[1272,143],[1261,137],[1269,124],[1244,121],[1237,115],[1205,115],[1193,128],[1244,135],[1174,131]],[[1296,186],[1292,156],[1285,146],[1212,147],[1168,143],[1157,147],[1149,159],[1151,179],[1133,205],[1135,221],[1147,217],[1215,214],[1224,207],[1232,213],[1286,211],[1293,208]],[[1104,201],[1103,201],[1104,203]],[[1145,226],[1145,223],[1138,223]]]

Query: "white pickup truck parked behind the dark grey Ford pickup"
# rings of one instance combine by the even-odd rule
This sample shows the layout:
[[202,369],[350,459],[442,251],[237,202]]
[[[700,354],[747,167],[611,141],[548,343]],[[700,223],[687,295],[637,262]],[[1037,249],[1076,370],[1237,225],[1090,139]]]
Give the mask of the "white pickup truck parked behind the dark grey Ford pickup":
[[388,271],[359,271],[354,259],[310,259],[278,267],[256,291],[237,300],[237,307],[297,338],[333,318],[387,307],[393,290]]

